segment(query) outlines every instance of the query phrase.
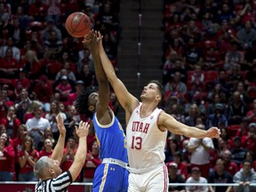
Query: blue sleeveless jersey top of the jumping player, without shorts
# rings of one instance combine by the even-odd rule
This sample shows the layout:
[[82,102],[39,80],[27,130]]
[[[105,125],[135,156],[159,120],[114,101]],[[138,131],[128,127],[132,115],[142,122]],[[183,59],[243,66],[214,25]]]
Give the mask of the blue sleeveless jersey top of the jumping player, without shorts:
[[96,114],[93,116],[96,139],[100,147],[100,158],[115,158],[128,163],[126,137],[122,125],[112,112],[112,122],[102,125],[98,122]]

